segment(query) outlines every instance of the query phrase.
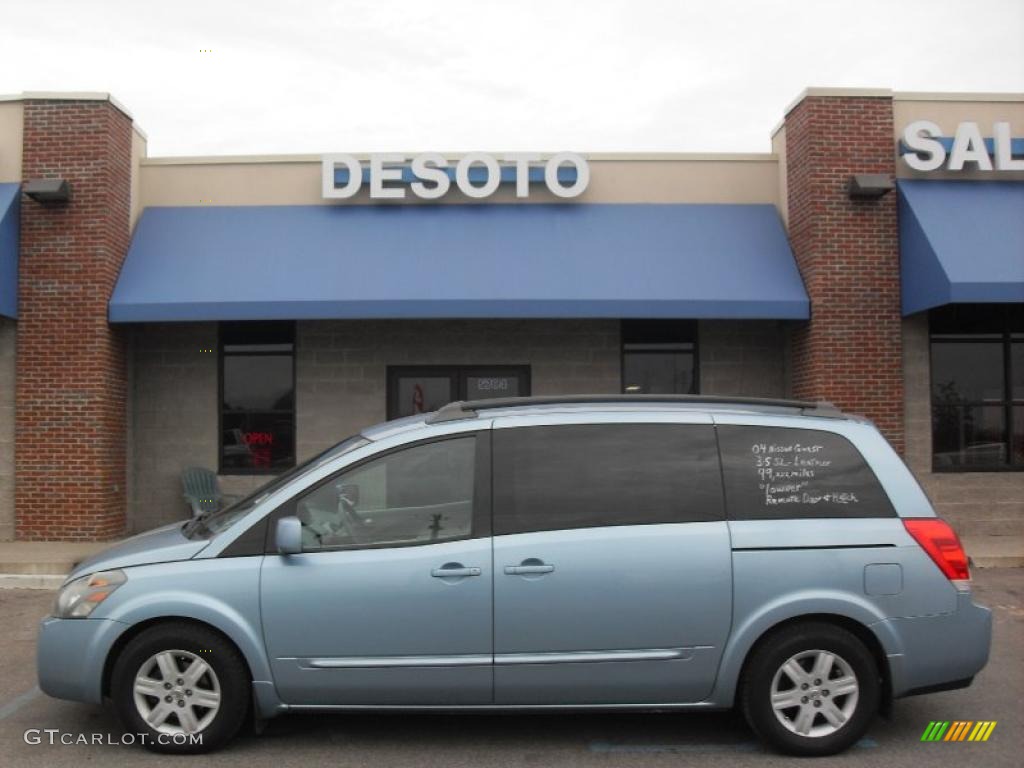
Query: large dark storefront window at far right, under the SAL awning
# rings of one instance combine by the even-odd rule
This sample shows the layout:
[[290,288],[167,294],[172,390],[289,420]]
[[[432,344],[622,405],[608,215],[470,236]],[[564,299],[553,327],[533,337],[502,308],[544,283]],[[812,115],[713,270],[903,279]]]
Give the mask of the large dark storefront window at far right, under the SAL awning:
[[1024,469],[1024,308],[932,310],[936,471]]

